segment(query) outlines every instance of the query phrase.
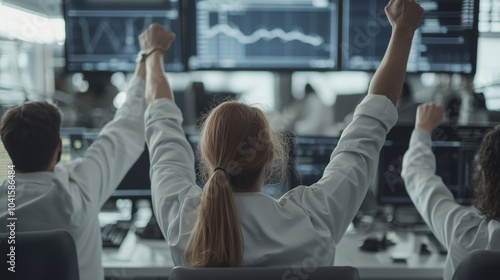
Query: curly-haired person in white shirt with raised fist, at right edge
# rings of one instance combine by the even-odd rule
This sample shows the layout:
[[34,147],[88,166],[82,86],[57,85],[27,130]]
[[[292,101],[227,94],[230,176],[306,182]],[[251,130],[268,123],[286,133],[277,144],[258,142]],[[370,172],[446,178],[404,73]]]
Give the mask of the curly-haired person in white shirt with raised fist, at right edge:
[[489,131],[477,152],[474,207],[459,205],[439,176],[431,134],[444,118],[434,103],[419,106],[402,177],[417,210],[448,249],[444,279],[474,249],[500,250],[500,126]]

